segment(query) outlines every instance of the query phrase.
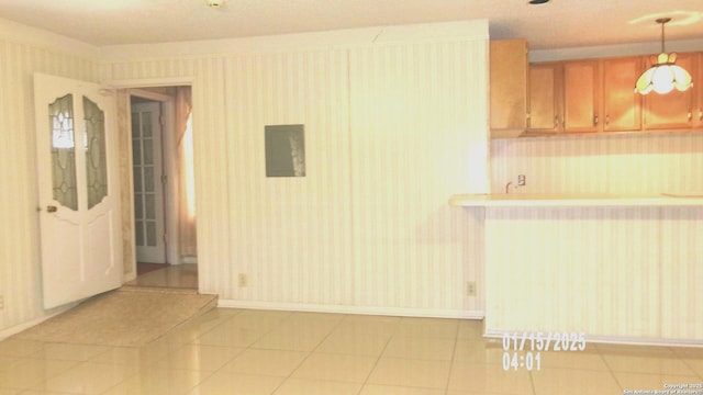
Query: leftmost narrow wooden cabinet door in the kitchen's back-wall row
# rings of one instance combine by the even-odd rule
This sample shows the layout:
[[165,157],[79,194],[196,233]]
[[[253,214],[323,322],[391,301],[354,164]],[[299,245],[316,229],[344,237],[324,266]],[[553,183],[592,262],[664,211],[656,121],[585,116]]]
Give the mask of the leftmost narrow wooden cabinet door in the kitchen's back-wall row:
[[529,132],[561,132],[561,63],[529,65]]

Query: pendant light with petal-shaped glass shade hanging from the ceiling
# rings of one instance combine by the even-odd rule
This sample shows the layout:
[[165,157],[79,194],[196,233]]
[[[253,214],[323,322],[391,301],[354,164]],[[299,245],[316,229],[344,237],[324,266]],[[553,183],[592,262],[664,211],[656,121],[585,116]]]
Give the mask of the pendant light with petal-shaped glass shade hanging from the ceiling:
[[693,86],[691,75],[683,67],[677,66],[677,54],[667,54],[663,50],[663,25],[671,21],[671,18],[660,18],[657,23],[661,24],[661,54],[652,55],[649,59],[651,67],[643,72],[635,83],[635,92],[647,94],[655,91],[659,94],[671,92],[674,88],[684,91]]

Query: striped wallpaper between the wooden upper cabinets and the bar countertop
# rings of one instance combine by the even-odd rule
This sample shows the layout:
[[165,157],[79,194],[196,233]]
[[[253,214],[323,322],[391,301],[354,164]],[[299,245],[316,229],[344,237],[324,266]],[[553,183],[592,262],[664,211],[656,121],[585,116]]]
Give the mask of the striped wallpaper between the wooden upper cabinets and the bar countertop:
[[703,134],[618,134],[491,142],[491,190],[660,193],[703,191]]

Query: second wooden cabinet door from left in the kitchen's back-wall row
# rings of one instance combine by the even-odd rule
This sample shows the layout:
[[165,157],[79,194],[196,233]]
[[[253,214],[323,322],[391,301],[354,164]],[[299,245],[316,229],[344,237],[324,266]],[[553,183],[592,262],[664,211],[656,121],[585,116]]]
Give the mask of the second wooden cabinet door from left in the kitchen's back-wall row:
[[563,131],[598,132],[601,113],[601,63],[563,64]]

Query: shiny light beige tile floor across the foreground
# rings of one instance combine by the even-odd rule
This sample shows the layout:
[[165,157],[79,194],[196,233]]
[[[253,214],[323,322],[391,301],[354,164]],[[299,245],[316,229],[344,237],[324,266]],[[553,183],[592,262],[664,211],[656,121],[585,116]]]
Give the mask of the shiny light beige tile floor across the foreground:
[[542,352],[533,371],[502,360],[477,320],[215,308],[142,348],[7,339],[0,395],[562,395],[703,383],[696,348],[589,343]]

